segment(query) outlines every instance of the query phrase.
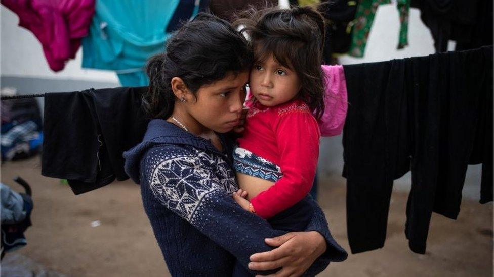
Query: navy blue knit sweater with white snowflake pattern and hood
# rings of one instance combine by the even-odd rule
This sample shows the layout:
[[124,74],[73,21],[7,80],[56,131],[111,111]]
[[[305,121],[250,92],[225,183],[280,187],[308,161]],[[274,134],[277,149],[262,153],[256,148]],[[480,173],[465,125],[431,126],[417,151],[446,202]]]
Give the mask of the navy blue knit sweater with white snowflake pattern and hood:
[[[272,249],[264,238],[285,233],[233,201],[238,185],[231,145],[221,139],[224,152],[156,119],[143,141],[124,153],[125,170],[141,184],[144,209],[173,276],[230,276],[235,259],[247,267],[250,255]],[[327,251],[306,272],[315,275],[347,253],[331,236],[320,207],[310,202],[315,213],[306,231],[318,231],[327,242]]]

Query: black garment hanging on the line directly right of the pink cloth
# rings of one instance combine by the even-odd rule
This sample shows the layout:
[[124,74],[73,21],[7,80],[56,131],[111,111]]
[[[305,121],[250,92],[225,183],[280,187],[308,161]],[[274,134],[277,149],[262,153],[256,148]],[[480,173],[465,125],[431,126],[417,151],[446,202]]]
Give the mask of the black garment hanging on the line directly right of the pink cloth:
[[347,229],[352,253],[384,246],[393,180],[410,168],[405,61],[344,66]]

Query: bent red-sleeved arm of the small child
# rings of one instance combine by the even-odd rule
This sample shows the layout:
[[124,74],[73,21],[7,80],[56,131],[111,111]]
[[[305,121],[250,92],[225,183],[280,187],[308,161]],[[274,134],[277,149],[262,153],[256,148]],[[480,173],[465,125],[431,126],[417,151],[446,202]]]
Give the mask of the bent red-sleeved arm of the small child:
[[251,199],[256,213],[263,218],[270,218],[302,200],[314,181],[319,128],[310,112],[294,110],[279,116],[274,126],[283,177]]

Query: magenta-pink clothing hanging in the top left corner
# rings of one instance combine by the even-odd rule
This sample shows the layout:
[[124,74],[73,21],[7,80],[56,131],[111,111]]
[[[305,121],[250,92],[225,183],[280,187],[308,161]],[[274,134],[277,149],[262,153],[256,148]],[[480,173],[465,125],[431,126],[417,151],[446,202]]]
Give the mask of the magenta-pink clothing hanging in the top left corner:
[[95,0],[1,0],[19,16],[19,26],[30,30],[43,45],[48,65],[60,71],[74,59],[81,38],[88,35]]

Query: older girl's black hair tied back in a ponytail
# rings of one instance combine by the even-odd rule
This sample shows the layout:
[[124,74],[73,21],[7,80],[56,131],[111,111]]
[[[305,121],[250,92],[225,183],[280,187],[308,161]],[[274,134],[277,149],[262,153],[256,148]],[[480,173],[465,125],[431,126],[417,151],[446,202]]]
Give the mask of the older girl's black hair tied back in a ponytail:
[[168,39],[166,52],[149,60],[144,108],[151,118],[167,119],[177,100],[171,88],[173,77],[180,77],[195,94],[201,86],[251,66],[252,51],[245,37],[227,21],[199,13]]

